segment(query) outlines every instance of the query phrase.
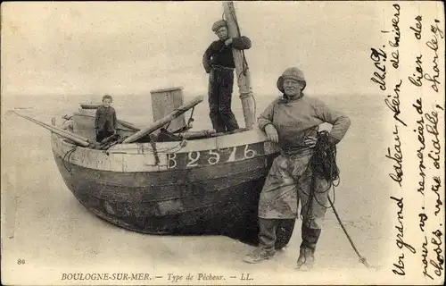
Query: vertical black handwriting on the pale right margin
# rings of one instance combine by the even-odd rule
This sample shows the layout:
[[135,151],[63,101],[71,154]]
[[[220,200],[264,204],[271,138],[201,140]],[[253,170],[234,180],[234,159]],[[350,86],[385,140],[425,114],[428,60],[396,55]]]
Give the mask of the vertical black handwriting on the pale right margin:
[[[389,119],[388,163],[397,276],[441,282],[444,271],[444,23],[413,4],[389,3],[370,78]],[[410,265],[410,266],[408,266]],[[418,269],[418,271],[414,271]]]

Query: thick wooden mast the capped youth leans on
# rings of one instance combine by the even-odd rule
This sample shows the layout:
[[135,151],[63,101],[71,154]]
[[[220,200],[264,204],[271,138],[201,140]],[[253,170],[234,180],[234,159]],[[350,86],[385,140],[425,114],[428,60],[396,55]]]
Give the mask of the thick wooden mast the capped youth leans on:
[[[227,21],[227,32],[230,38],[240,37],[237,29],[237,22],[235,17],[235,8],[232,1],[223,2],[223,11],[225,13],[225,20]],[[251,74],[246,66],[244,69],[244,56],[242,52],[232,49],[235,63],[235,76],[238,84],[238,92],[240,93],[240,99],[242,100],[242,106],[244,110],[244,125],[246,129],[252,130],[252,124],[254,123],[254,114],[252,112],[252,90],[251,90]]]

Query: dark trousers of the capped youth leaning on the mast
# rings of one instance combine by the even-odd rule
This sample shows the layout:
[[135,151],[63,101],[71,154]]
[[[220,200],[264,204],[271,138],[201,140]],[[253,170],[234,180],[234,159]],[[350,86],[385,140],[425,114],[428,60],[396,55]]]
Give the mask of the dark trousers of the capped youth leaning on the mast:
[[231,110],[234,71],[213,68],[209,76],[209,109],[212,127],[217,132],[238,129],[235,115]]

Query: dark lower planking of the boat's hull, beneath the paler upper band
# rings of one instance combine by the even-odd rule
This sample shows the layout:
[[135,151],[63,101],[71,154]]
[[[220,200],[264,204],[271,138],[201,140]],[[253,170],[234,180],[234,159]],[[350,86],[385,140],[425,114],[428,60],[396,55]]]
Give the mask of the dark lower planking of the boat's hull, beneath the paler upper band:
[[[256,225],[256,209],[252,206],[257,206],[262,178],[252,181],[235,179],[233,181],[238,181],[235,187],[225,189],[214,186],[214,184],[224,185],[224,178],[202,184],[191,184],[193,187],[182,185],[156,188],[149,185],[153,181],[160,180],[160,175],[168,174],[151,176],[153,174],[107,173],[74,165],[67,170],[62,157],[55,158],[63,180],[82,205],[103,219],[128,230],[150,234],[227,233],[233,228],[229,224],[242,211],[252,216],[252,222],[246,223],[248,219],[245,217],[244,224]],[[104,176],[127,177],[126,180],[135,181],[138,181],[136,177],[145,176],[147,178],[144,181],[148,185],[145,187],[118,186],[111,183],[105,185],[92,179]],[[163,191],[166,191],[166,194],[163,194]],[[161,194],[150,195],[157,192]],[[112,193],[117,195],[113,196]],[[135,196],[131,198],[130,194]],[[143,200],[138,201],[137,198]],[[255,229],[252,231],[255,232]]]

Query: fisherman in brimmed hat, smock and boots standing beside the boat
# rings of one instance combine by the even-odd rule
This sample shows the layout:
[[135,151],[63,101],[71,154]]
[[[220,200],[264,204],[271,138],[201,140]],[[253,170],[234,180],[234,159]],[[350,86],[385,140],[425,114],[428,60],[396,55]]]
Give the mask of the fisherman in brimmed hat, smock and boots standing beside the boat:
[[[277,80],[283,97],[274,100],[258,118],[268,140],[278,143],[281,154],[274,160],[260,192],[259,248],[244,257],[259,263],[275,254],[276,229],[281,219],[296,219],[301,201],[301,249],[297,268],[308,270],[314,264],[314,252],[326,214],[330,182],[313,177],[310,158],[318,143],[318,125],[333,125],[330,145],[337,144],[350,127],[350,119],[328,108],[316,98],[304,97],[306,80],[298,68],[289,68]],[[314,181],[312,181],[314,180]],[[314,184],[312,184],[314,183]]]

